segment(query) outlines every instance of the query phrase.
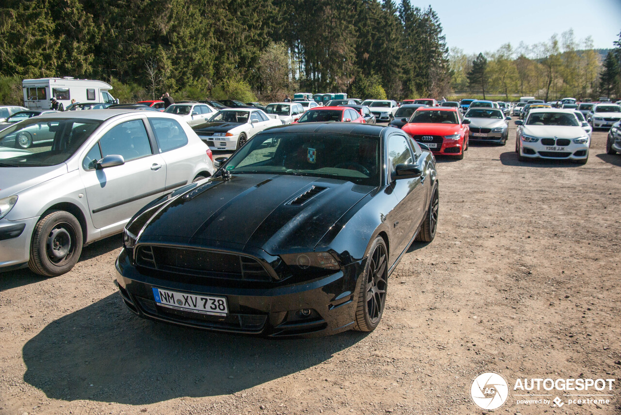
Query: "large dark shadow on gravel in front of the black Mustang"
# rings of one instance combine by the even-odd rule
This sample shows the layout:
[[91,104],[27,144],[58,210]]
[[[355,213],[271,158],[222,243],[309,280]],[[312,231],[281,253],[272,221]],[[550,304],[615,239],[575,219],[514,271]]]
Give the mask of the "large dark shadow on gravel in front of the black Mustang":
[[150,404],[235,393],[318,365],[365,338],[263,339],[136,317],[120,295],[53,321],[25,344],[24,381],[48,398]]

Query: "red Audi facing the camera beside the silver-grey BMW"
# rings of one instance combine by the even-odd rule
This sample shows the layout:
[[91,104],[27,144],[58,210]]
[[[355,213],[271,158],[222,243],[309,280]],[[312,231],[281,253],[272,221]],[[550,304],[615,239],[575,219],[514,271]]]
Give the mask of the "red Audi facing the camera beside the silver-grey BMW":
[[457,108],[420,107],[402,129],[433,154],[453,155],[461,160],[468,150],[469,123]]

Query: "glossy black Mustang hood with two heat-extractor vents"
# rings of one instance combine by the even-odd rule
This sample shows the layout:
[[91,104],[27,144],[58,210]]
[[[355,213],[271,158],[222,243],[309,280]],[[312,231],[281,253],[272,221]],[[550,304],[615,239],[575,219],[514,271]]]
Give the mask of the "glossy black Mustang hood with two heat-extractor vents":
[[[314,196],[297,199],[313,186]],[[147,222],[138,242],[238,249],[248,245],[271,255],[312,251],[371,190],[350,181],[291,175],[214,178],[165,204]]]

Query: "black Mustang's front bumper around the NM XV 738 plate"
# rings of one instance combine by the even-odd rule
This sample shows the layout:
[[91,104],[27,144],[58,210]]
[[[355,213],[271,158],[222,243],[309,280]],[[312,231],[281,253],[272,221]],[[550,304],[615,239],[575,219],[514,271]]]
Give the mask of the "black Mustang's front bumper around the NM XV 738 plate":
[[[364,261],[364,260],[363,260]],[[363,261],[343,267],[337,273],[294,284],[263,284],[250,287],[196,284],[162,279],[141,273],[122,250],[116,261],[117,286],[125,305],[140,317],[167,321],[212,331],[256,336],[322,336],[354,327],[357,292]],[[226,297],[226,316],[202,315],[157,305],[152,288],[189,294]],[[311,310],[304,316],[302,310]]]

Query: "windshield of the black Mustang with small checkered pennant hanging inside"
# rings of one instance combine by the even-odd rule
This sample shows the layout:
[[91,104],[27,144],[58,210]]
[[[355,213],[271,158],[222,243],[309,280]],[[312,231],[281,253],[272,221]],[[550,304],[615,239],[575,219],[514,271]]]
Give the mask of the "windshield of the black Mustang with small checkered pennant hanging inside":
[[233,154],[233,174],[317,176],[379,186],[379,138],[335,133],[259,133]]

